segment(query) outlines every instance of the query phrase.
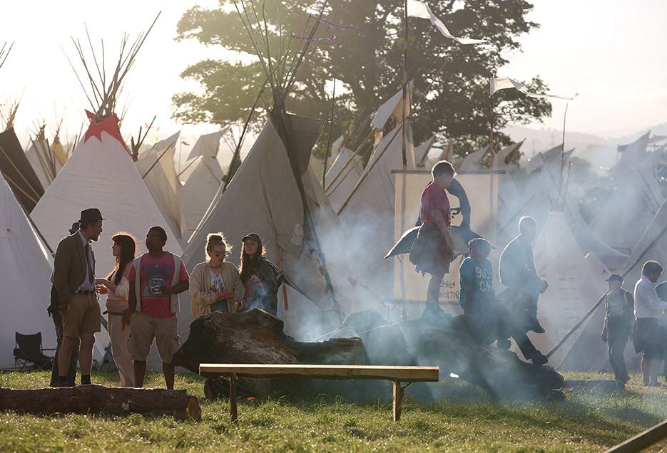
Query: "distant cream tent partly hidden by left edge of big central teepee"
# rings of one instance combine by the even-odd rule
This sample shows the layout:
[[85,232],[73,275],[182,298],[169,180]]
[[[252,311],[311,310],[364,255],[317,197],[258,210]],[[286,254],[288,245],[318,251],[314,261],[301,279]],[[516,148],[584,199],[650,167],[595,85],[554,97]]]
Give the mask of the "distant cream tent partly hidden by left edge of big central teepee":
[[190,236],[197,228],[208,207],[215,198],[215,194],[223,184],[225,173],[215,157],[197,157],[188,180],[178,191],[179,203],[185,222],[185,237]]

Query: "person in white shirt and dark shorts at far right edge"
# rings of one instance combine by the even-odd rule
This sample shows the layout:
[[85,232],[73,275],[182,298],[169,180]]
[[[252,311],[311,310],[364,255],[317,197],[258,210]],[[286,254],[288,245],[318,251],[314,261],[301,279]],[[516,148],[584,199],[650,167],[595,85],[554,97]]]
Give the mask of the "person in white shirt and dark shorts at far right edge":
[[646,261],[641,278],[635,285],[635,326],[632,342],[636,353],[643,352],[641,374],[643,384],[659,387],[658,373],[667,352],[667,335],[660,321],[667,310],[667,302],[661,301],[656,291],[663,267],[658,261]]

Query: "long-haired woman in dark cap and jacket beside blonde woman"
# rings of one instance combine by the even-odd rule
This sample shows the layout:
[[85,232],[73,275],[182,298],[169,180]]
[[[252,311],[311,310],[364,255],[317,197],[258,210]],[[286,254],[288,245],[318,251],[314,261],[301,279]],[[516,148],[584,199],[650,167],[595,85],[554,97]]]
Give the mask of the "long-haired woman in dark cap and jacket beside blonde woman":
[[266,259],[262,238],[250,233],[243,239],[241,251],[241,283],[245,286],[245,311],[260,308],[278,316],[280,272]]

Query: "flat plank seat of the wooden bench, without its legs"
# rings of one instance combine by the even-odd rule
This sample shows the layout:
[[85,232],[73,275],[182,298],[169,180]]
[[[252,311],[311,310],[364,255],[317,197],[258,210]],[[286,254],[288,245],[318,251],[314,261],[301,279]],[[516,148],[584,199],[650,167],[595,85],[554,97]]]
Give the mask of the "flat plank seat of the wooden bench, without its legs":
[[437,382],[438,367],[379,365],[269,365],[255,363],[202,363],[200,375],[306,376],[322,379],[384,379],[400,382]]

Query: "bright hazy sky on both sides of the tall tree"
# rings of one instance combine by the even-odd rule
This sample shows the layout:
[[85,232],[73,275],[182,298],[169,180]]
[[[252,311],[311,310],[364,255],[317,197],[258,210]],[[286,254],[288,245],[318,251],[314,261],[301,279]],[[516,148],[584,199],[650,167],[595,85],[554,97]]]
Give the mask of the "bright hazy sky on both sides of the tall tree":
[[[78,65],[70,36],[84,39],[84,22],[93,40],[104,38],[111,52],[118,48],[123,31],[136,36],[161,10],[126,79],[130,105],[123,134],[136,134],[139,125],[158,115],[160,128],[149,140],[170,135],[180,128],[170,119],[171,96],[197,88],[178,74],[200,59],[228,55],[195,42],[174,41],[175,24],[193,4],[216,2],[5,2],[0,42],[15,41],[15,45],[0,69],[0,103],[23,94],[18,131],[33,130],[39,119],[51,124],[57,112],[64,113],[68,132],[76,134],[88,105],[61,46]],[[525,79],[539,74],[554,93],[579,93],[569,106],[572,131],[613,137],[667,121],[667,61],[659,50],[667,38],[667,27],[661,23],[667,17],[667,1],[536,0],[534,4],[529,19],[541,28],[521,38],[523,53],[512,55],[510,65],[497,75]],[[561,128],[565,103],[556,100],[553,105],[553,118],[534,127]],[[190,126],[184,133],[194,136],[213,130],[212,125]]]

